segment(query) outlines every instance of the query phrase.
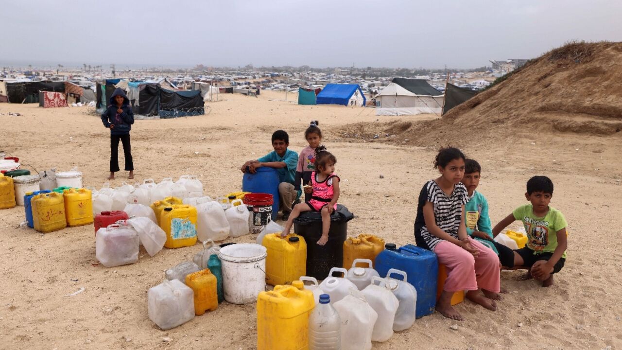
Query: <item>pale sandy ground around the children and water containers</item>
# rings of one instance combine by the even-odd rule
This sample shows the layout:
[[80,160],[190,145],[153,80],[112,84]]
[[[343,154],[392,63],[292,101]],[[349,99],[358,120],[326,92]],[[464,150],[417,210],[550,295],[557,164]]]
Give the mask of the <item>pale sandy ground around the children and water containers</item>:
[[[290,148],[299,151],[306,143],[304,129],[317,119],[326,134],[324,143],[338,158],[340,202],[356,215],[349,234],[368,232],[399,245],[414,243],[416,197],[422,184],[437,176],[432,169],[435,149],[345,140],[337,130],[378,118],[436,116],[388,118],[376,117],[371,108],[299,106],[284,102],[284,95],[276,92],[262,92],[259,98],[222,96],[224,101],[210,103],[210,115],[136,121],[136,179],[196,174],[210,196],[236,191],[241,187],[239,166],[271,151],[272,131],[287,130]],[[288,95],[289,100],[294,97]],[[9,111],[22,116],[8,116]],[[78,167],[85,186],[99,188],[105,182],[108,130],[86,108],[3,103],[0,125],[1,148],[29,166],[59,171]],[[551,288],[520,281],[519,272],[503,272],[502,284],[510,293],[498,311],[467,301],[457,306],[466,321],[434,313],[389,341],[374,343],[374,349],[622,348],[619,146],[620,136],[569,134],[482,140],[464,149],[483,166],[480,191],[490,202],[493,224],[525,202],[530,176],[552,177],[552,206],[565,214],[570,228],[565,268]],[[119,173],[113,186],[120,186],[126,176]],[[162,281],[166,268],[192,259],[200,245],[165,249],[155,257],[141,250],[134,265],[104,268],[95,261],[92,225],[39,234],[17,229],[23,218],[22,207],[0,212],[0,348],[255,348],[254,305],[223,303],[169,331],[160,331],[147,318],[147,290]],[[254,242],[254,237],[237,241]],[[86,290],[65,296],[80,287]],[[450,329],[452,324],[458,324],[457,331]],[[165,337],[170,341],[164,342]]]

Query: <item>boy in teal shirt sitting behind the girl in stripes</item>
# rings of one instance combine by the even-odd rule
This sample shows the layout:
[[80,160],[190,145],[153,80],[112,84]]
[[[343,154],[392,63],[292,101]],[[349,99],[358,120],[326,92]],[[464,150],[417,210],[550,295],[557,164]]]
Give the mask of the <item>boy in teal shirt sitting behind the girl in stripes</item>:
[[481,192],[475,191],[480,185],[480,177],[480,163],[474,159],[466,159],[465,174],[461,181],[469,197],[465,205],[466,233],[497,253],[503,268],[513,268],[514,252],[505,245],[494,242],[492,224],[488,216],[488,201]]

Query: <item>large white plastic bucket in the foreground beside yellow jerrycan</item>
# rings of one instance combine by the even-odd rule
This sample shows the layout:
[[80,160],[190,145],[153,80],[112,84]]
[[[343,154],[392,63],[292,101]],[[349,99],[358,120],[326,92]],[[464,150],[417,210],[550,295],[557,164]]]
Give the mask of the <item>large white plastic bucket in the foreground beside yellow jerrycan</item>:
[[223,263],[225,300],[232,304],[256,302],[259,292],[266,290],[266,247],[231,244],[221,248],[218,257]]

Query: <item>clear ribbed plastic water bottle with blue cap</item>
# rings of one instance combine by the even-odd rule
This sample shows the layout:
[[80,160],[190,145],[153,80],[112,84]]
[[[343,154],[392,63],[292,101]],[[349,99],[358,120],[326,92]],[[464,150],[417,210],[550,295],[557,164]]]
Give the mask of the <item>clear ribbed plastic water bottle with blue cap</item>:
[[309,350],[341,350],[341,319],[328,294],[320,295],[309,317]]

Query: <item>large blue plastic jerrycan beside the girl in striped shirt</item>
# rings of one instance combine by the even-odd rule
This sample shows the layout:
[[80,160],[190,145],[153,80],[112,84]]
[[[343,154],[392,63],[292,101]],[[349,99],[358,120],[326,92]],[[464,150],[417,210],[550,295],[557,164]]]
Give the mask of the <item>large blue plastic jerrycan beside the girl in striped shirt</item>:
[[417,290],[417,318],[434,313],[439,276],[436,254],[412,244],[399,249],[395,244],[386,244],[376,257],[376,271],[386,276],[391,268],[406,272],[408,283]]

